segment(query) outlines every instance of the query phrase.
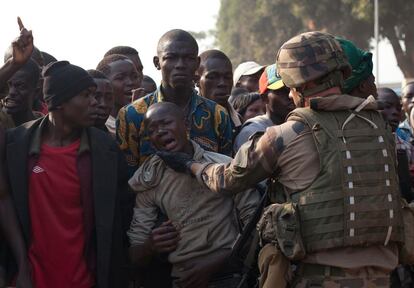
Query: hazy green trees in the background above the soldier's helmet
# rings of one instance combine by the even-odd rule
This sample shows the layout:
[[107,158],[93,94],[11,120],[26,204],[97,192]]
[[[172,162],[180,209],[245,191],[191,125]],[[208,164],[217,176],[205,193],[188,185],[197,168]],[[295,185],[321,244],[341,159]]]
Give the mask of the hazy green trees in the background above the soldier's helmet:
[[[406,78],[414,78],[414,1],[379,0],[380,34],[392,44]],[[322,30],[369,48],[373,0],[221,0],[216,41],[237,65],[275,61],[283,42]]]

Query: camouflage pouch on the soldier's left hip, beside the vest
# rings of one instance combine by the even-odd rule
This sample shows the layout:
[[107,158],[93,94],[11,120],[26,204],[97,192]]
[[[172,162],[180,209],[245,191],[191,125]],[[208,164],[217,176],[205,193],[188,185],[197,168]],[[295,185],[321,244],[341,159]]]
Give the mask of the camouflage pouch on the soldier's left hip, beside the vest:
[[268,206],[257,224],[257,229],[262,245],[273,243],[292,261],[305,258],[297,204]]

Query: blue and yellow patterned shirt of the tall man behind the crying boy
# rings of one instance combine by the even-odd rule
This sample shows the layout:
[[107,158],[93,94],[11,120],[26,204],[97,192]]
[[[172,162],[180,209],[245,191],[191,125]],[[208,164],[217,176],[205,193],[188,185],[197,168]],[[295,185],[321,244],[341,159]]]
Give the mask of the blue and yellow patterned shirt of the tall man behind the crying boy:
[[[154,153],[143,120],[149,106],[163,101],[165,101],[164,96],[158,88],[154,93],[138,99],[119,111],[116,136],[125,154],[130,175]],[[231,156],[232,128],[227,111],[215,102],[199,96],[195,90],[190,107],[191,113],[187,116],[190,124],[187,134],[190,139],[208,151]]]

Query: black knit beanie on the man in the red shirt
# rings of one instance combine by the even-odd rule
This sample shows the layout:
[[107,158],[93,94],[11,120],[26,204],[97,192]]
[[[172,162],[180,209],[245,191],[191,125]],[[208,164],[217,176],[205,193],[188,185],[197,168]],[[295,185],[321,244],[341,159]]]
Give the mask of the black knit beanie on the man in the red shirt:
[[42,75],[43,97],[50,111],[83,90],[96,86],[88,72],[68,61],[50,63],[43,68]]

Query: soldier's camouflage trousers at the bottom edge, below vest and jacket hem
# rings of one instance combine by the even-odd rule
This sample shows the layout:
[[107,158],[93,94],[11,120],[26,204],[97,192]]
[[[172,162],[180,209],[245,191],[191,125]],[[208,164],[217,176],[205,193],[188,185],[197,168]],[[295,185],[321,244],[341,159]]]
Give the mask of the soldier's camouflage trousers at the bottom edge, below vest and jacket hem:
[[[315,265],[312,265],[315,266]],[[318,265],[320,267],[325,267]],[[360,270],[341,270],[334,275],[297,275],[292,287],[294,288],[389,288],[389,274],[375,268]],[[306,275],[307,274],[307,275]],[[336,275],[335,275],[336,274]],[[340,275],[341,274],[341,275]]]

